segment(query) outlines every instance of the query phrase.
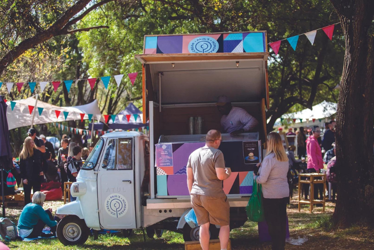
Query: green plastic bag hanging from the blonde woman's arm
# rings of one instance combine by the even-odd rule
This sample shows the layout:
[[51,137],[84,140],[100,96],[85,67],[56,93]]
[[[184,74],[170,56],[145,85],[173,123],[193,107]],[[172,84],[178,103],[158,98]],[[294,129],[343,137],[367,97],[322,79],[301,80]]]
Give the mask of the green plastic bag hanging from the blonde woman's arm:
[[257,184],[256,179],[253,180],[253,191],[246,210],[250,221],[261,222],[265,220],[261,184]]

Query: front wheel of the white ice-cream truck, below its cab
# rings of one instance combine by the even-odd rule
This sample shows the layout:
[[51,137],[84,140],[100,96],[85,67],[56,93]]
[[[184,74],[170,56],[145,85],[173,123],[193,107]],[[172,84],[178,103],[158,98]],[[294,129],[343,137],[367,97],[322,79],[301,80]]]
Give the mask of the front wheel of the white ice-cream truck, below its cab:
[[57,237],[64,245],[84,244],[89,235],[89,228],[84,220],[75,215],[64,217],[57,225]]

